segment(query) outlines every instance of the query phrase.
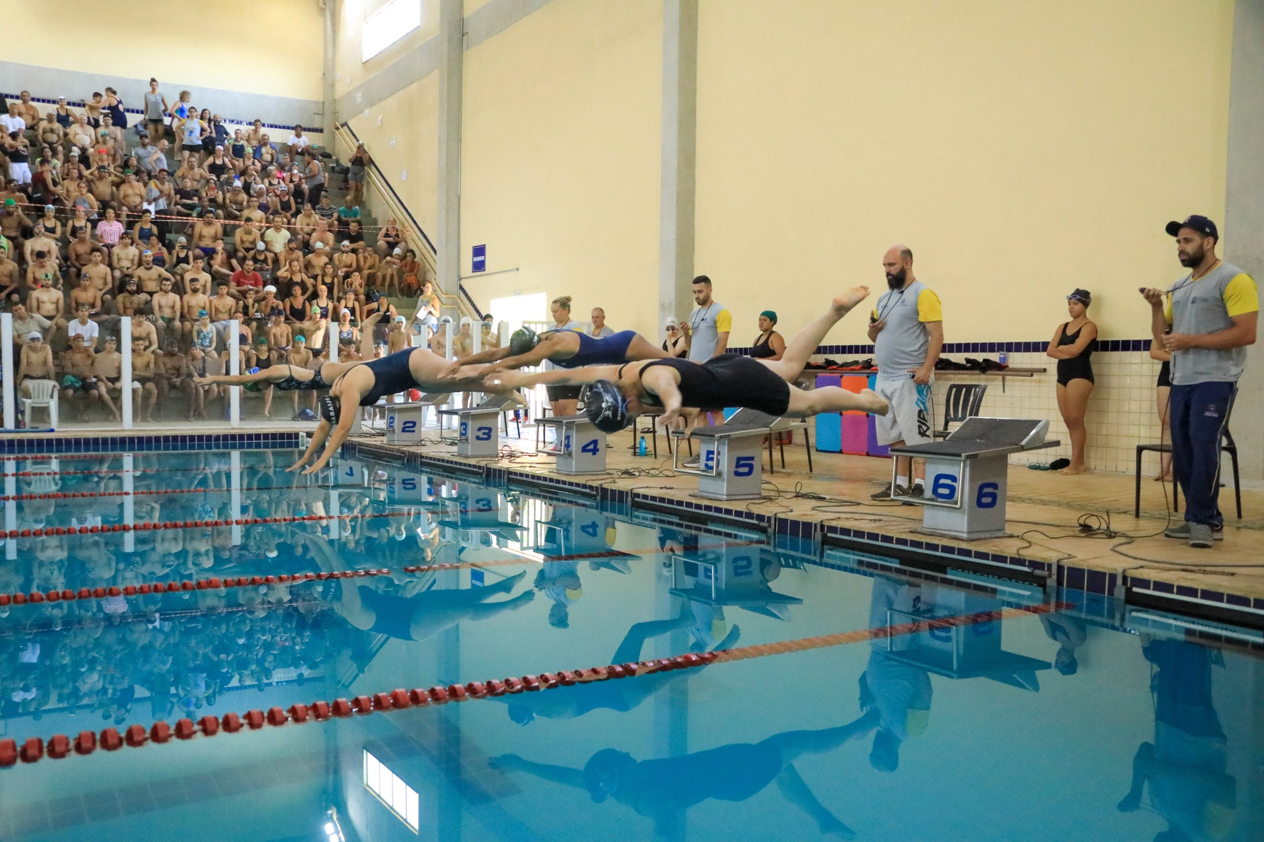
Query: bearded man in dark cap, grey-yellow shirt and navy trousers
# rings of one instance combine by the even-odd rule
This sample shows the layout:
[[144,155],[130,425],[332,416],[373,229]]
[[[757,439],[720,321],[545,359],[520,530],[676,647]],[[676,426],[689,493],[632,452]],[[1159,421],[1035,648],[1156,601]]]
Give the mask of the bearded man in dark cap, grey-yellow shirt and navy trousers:
[[1143,289],[1154,342],[1172,355],[1172,466],[1186,495],[1186,523],[1168,538],[1206,549],[1224,537],[1220,441],[1255,343],[1259,292],[1250,275],[1216,258],[1220,232],[1205,216],[1168,222],[1177,259],[1189,274],[1173,287]]

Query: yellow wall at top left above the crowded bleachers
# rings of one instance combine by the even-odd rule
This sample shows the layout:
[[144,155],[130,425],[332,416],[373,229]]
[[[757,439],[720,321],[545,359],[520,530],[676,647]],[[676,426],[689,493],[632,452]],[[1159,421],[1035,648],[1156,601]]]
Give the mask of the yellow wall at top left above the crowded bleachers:
[[[120,78],[157,76],[229,91],[321,98],[325,37],[315,0],[219,0],[211,6],[181,0],[153,9],[161,23],[145,35],[150,21],[131,0],[11,0],[0,15],[6,33],[0,58]],[[206,45],[222,50],[220,58],[202,61]],[[168,102],[178,93],[169,88],[161,88]],[[90,93],[66,92],[71,98]]]

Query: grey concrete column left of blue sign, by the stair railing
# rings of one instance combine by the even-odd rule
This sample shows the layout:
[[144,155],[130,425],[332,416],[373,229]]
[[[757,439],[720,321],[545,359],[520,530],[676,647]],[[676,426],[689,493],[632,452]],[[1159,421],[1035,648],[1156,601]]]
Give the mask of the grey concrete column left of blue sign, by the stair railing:
[[461,276],[463,0],[439,0],[439,288],[459,294]]

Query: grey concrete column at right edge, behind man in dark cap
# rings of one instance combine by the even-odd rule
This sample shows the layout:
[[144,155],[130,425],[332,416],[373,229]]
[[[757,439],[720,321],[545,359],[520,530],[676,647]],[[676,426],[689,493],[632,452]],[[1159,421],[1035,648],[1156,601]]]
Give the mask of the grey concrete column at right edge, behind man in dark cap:
[[[1237,0],[1229,86],[1229,165],[1225,186],[1225,260],[1264,284],[1264,0]],[[1264,336],[1260,337],[1264,341]],[[1264,401],[1264,343],[1248,348],[1246,372],[1229,428],[1236,432],[1244,481],[1264,480],[1264,437],[1251,415]],[[1227,458],[1225,460],[1227,465]],[[1226,477],[1232,475],[1226,473]],[[1229,504],[1232,505],[1231,502]],[[1221,507],[1225,497],[1221,496]],[[1227,509],[1226,509],[1227,511]]]

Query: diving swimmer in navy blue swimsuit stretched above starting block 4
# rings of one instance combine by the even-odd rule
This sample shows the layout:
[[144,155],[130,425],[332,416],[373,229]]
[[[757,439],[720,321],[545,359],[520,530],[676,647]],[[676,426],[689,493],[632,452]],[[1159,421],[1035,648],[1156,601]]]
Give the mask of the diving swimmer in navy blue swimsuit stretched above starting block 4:
[[503,348],[490,348],[454,360],[444,374],[455,375],[464,366],[494,362],[497,369],[521,369],[549,360],[559,369],[586,365],[621,365],[635,360],[660,360],[667,352],[636,331],[619,331],[597,338],[578,331],[546,331],[536,333],[520,328]]

